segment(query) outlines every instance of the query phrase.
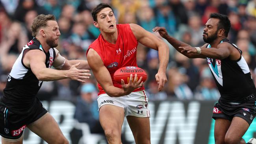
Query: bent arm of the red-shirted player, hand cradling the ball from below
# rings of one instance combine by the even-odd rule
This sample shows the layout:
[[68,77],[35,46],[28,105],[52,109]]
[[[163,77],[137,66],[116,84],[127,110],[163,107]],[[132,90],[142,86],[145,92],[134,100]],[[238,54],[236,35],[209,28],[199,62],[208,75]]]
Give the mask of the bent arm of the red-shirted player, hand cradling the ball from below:
[[[104,66],[102,59],[98,55],[98,53],[93,50],[92,48],[89,49],[87,53],[87,61],[89,63],[89,66],[93,70],[93,74],[102,86],[102,88],[105,90],[105,92],[112,97],[119,97],[119,96],[125,96],[130,94],[132,91],[137,89],[138,87],[141,87],[142,82],[141,79],[142,77],[137,81],[131,80],[129,81],[128,84],[124,84],[124,81],[122,81],[122,88],[120,89],[118,87],[115,87],[112,83],[111,76],[109,74],[108,69]],[[135,76],[134,79],[137,79],[137,75]]]

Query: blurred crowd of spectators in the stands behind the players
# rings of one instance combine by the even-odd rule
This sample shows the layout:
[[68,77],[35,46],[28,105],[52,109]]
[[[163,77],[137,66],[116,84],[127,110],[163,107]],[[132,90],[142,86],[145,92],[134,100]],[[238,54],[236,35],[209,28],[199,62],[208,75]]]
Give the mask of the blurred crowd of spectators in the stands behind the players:
[[[119,24],[136,23],[150,32],[155,26],[163,26],[170,35],[191,46],[204,44],[202,33],[210,13],[228,15],[232,25],[228,39],[243,51],[242,55],[251,69],[253,78],[256,76],[256,0],[0,0],[0,2],[0,96],[7,81],[7,74],[21,48],[32,39],[30,26],[33,18],[39,14],[54,14],[61,32],[57,47],[61,55],[67,59],[86,59],[89,44],[100,33],[94,27],[91,17],[91,10],[99,3],[108,3],[113,7]],[[158,33],[154,34],[160,37]],[[145,69],[148,74],[145,88],[149,100],[171,98],[218,100],[220,95],[206,59],[188,59],[176,52],[165,39],[163,40],[169,45],[170,59],[167,68],[168,82],[161,92],[158,92],[158,84],[155,80],[159,66],[158,52],[141,44],[137,48],[138,66]],[[78,103],[80,107],[86,103],[93,105],[97,97],[96,85],[93,76],[86,84],[70,79],[44,82],[38,97],[41,100],[80,102]],[[83,96],[84,93],[89,93],[89,96]],[[85,102],[81,102],[82,100]],[[97,108],[92,111],[97,111]]]

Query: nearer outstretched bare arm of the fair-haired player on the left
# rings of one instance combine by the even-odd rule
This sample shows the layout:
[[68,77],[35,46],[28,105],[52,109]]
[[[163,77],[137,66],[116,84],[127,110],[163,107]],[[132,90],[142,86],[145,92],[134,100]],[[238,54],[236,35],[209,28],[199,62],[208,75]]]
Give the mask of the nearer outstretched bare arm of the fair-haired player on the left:
[[44,52],[40,50],[29,50],[23,59],[24,65],[31,68],[33,74],[40,81],[54,81],[59,79],[70,78],[80,82],[85,82],[83,79],[88,79],[91,74],[88,74],[89,70],[79,70],[76,67],[80,65],[77,63],[72,65],[69,70],[55,70],[46,68],[45,66],[46,56]]

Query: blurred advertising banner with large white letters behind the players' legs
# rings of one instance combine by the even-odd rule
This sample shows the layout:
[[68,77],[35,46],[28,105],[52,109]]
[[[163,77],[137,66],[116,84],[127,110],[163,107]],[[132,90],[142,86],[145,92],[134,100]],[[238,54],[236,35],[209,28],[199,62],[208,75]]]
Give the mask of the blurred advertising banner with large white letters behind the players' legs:
[[[215,101],[169,100],[150,102],[152,144],[214,144],[214,120],[211,118]],[[74,119],[75,105],[69,101],[43,101],[45,108],[58,122],[70,144],[106,144],[100,134],[90,133],[86,123]],[[143,133],[143,129],[141,129]],[[243,138],[256,136],[254,120]],[[135,144],[126,119],[122,127],[123,144]],[[24,144],[46,144],[40,137],[25,129]]]

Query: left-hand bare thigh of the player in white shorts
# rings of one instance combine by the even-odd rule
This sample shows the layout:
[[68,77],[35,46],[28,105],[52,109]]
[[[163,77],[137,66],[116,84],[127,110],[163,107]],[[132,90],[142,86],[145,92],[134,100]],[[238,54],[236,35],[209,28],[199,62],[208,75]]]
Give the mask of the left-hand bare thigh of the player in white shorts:
[[124,122],[124,108],[114,105],[103,105],[99,110],[99,118],[104,131],[109,129],[118,131],[121,138],[122,123]]

